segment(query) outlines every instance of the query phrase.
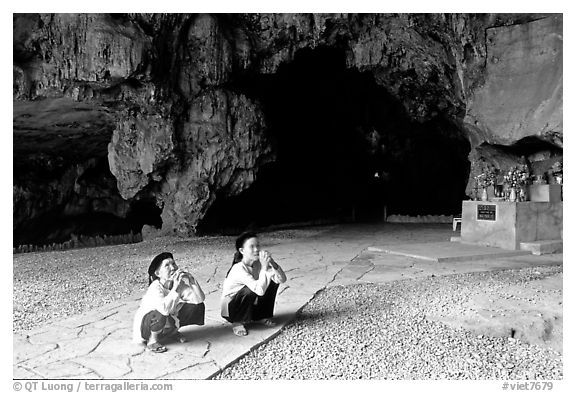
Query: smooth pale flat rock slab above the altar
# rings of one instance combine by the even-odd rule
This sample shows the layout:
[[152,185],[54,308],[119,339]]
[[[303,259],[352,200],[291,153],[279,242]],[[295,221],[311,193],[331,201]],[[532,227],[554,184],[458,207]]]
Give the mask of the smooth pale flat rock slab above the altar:
[[464,122],[501,145],[536,136],[562,146],[562,17],[486,31],[486,79]]

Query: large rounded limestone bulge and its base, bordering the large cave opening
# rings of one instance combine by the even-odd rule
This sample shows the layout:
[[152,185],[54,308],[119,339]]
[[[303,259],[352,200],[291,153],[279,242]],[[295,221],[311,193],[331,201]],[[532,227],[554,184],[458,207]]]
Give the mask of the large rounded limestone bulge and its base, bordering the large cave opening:
[[207,90],[191,104],[180,130],[187,152],[165,175],[159,195],[163,229],[194,233],[216,198],[236,195],[252,184],[258,166],[273,159],[259,106],[226,90]]

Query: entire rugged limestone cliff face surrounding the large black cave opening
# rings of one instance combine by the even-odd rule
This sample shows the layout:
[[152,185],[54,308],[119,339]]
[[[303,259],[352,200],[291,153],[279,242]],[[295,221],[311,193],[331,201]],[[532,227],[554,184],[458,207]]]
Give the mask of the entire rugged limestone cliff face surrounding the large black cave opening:
[[[239,81],[306,48],[343,53],[414,122],[450,124],[471,162],[484,143],[563,143],[561,15],[15,14],[13,33],[15,160],[38,164],[15,167],[15,228],[74,200],[122,217],[147,199],[162,232],[194,234],[276,157],[266,108]],[[385,151],[375,143],[366,154]],[[65,179],[102,157],[117,191],[98,205]],[[42,175],[47,162],[60,170]]]

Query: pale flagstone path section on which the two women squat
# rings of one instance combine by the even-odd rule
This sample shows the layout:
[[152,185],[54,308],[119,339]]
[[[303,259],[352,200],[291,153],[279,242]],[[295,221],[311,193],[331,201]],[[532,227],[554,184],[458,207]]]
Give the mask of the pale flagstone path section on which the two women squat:
[[[144,345],[131,343],[132,318],[140,294],[41,329],[15,334],[13,377],[209,378],[277,335],[317,291],[334,279],[344,262],[368,245],[365,241],[349,242],[346,250],[340,250],[333,243],[268,247],[289,277],[277,297],[276,327],[249,326],[248,336],[235,336],[230,324],[220,316],[221,283],[226,271],[205,267],[204,277],[208,276],[202,282],[207,294],[205,325],[181,329],[189,342],[167,342],[168,351],[162,354],[150,353]],[[197,277],[202,277],[202,273],[197,273]]]

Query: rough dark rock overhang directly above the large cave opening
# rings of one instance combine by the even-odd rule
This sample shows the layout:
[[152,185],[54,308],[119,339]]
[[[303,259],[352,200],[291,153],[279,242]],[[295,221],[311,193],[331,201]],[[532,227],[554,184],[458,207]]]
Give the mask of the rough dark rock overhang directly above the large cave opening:
[[385,14],[262,14],[245,17],[258,33],[257,71],[274,73],[297,50],[318,46],[345,51],[346,64],[371,72],[419,121],[464,104],[457,78],[461,48],[454,24],[468,16]]

